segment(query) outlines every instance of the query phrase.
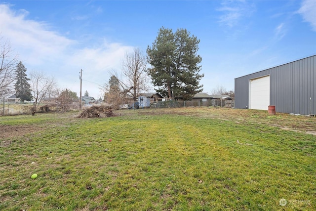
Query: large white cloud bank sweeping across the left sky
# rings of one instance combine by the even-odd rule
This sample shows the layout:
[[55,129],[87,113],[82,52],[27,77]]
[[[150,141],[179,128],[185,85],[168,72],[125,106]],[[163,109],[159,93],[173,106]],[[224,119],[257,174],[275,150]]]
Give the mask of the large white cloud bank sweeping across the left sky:
[[[79,94],[79,70],[91,96],[100,96],[99,85],[109,80],[109,71],[119,70],[121,59],[132,46],[107,42],[87,43],[71,40],[51,30],[49,23],[28,19],[28,11],[11,9],[0,4],[0,33],[11,43],[19,60],[30,71],[42,71],[53,76],[61,88]],[[79,46],[83,43],[85,46]]]

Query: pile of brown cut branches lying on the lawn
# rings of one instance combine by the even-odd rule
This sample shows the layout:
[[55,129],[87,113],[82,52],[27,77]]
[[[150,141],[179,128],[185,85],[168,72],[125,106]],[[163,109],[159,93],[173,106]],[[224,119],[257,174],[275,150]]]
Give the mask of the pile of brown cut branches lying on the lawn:
[[104,118],[104,117],[114,117],[113,108],[110,106],[91,106],[81,112],[78,118]]

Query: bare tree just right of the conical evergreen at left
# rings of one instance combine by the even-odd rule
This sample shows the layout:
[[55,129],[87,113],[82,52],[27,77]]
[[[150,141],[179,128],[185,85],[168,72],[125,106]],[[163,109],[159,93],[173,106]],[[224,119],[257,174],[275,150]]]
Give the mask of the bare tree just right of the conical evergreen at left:
[[49,97],[53,93],[56,86],[54,78],[45,76],[42,72],[32,72],[31,86],[34,97],[33,111],[36,111],[36,107],[40,104],[40,101],[44,97]]

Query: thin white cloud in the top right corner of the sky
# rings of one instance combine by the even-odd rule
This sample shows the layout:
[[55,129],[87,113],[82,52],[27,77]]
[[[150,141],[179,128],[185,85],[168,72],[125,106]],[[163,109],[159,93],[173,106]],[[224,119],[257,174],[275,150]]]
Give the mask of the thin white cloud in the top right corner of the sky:
[[316,0],[303,0],[298,13],[305,22],[309,22],[313,31],[316,31]]

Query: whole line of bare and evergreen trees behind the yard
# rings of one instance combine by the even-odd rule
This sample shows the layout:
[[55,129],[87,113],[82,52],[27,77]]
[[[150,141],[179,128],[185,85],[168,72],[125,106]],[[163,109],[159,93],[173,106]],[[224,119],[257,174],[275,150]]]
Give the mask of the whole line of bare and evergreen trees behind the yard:
[[[148,45],[146,55],[137,47],[125,54],[121,71],[113,71],[109,81],[101,87],[104,101],[117,107],[126,99],[136,101],[138,94],[147,92],[151,85],[170,100],[174,97],[190,100],[203,90],[199,84],[204,77],[200,74],[199,42],[186,29],[173,32],[160,28],[155,41]],[[21,103],[33,100],[34,110],[44,98],[54,97],[57,103],[65,105],[77,97],[76,92],[57,88],[54,78],[41,72],[34,71],[28,76],[24,64],[12,56],[9,43],[0,42],[0,47],[0,97],[14,90]],[[223,87],[217,89],[213,94],[234,95]],[[89,97],[87,90],[84,96]]]

